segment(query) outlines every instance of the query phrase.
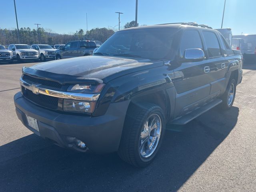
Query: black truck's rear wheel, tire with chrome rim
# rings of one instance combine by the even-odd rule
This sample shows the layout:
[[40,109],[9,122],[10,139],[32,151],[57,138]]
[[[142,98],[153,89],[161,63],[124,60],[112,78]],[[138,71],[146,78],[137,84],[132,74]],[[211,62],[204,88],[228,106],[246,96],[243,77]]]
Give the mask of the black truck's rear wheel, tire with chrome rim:
[[231,79],[228,83],[226,91],[221,96],[222,103],[220,104],[223,110],[227,110],[232,107],[236,96],[236,80]]

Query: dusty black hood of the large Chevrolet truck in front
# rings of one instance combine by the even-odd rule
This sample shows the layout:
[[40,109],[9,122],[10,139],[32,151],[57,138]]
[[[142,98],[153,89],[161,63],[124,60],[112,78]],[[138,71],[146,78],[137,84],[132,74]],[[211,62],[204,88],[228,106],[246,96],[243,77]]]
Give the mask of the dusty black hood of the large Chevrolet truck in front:
[[[163,61],[153,62],[142,58],[83,56],[36,64],[26,68],[24,72],[57,80],[61,83],[70,82],[71,80],[74,82],[74,79],[108,82],[128,73],[162,65]],[[65,82],[62,78],[65,78]]]

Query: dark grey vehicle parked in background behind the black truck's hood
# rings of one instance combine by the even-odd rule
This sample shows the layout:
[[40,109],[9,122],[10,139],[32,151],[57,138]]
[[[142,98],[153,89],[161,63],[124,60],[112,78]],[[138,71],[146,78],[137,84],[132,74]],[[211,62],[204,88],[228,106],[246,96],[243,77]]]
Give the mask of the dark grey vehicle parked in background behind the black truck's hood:
[[97,46],[94,41],[71,41],[56,50],[56,60],[92,55],[95,48]]

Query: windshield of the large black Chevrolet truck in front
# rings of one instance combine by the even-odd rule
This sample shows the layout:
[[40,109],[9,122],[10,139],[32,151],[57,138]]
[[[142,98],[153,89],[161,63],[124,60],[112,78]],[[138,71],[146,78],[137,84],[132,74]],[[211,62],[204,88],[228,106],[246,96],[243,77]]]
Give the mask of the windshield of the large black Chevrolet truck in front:
[[169,58],[177,31],[177,28],[144,28],[116,32],[94,54],[156,60]]

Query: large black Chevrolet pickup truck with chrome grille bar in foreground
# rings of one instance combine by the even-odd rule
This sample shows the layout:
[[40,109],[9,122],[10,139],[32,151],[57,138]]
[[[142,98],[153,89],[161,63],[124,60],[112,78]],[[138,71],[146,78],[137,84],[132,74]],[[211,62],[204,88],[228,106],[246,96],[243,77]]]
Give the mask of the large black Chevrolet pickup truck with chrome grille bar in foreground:
[[22,69],[16,114],[35,134],[86,152],[118,152],[134,166],[156,156],[166,123],[232,106],[242,55],[194,23],[120,30],[93,56]]

